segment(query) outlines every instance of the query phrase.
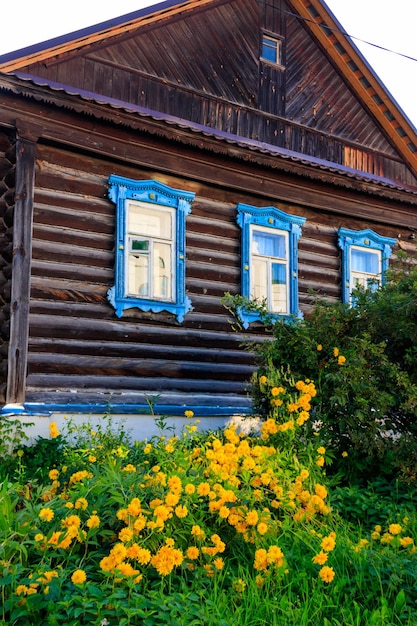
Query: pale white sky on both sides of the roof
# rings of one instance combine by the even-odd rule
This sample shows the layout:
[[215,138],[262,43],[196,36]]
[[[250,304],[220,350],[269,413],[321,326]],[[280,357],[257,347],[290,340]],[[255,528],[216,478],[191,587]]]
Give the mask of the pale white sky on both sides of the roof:
[[[2,28],[0,55],[156,3],[156,0],[14,0],[7,3],[8,28]],[[395,3],[326,0],[326,3],[417,127],[417,0],[395,0]]]

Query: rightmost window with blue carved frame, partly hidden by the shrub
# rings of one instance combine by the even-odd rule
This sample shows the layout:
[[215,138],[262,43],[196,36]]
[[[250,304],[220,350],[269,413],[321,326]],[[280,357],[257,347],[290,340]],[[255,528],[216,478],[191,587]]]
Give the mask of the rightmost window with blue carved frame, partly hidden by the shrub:
[[369,229],[339,229],[343,302],[351,302],[352,291],[358,287],[367,290],[381,285],[395,243],[396,239],[382,237]]

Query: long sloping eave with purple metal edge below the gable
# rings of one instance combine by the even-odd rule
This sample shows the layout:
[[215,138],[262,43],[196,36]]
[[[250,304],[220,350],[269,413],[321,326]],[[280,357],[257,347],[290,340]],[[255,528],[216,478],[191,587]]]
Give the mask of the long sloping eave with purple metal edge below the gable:
[[[175,141],[184,144],[203,147],[208,151],[223,152],[246,161],[250,159],[263,166],[281,169],[298,176],[327,181],[336,186],[356,188],[369,194],[385,195],[395,200],[402,198],[403,201],[411,201],[412,204],[417,203],[417,187],[402,185],[388,178],[39,77],[0,72],[0,91],[73,111],[84,117],[94,116],[96,119],[123,125],[126,128],[140,129],[167,139],[174,137]],[[36,118],[37,124],[42,124],[38,113]],[[45,123],[45,132],[48,132],[47,126]],[[40,135],[44,136],[42,130]]]

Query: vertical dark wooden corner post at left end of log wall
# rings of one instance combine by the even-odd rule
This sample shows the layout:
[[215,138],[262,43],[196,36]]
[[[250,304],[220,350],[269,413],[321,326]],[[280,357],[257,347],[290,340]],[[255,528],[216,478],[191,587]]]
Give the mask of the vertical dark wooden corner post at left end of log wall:
[[25,401],[32,261],[36,141],[39,133],[16,123],[16,181],[6,410],[23,410]]

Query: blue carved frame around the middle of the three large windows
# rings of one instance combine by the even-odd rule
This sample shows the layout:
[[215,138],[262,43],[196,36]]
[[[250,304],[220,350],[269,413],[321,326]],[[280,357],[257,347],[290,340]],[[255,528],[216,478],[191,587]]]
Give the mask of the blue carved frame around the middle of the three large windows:
[[[237,205],[237,223],[242,229],[241,245],[241,292],[242,296],[251,298],[251,227],[261,226],[272,230],[288,233],[288,303],[287,314],[272,314],[273,317],[301,317],[298,309],[298,240],[301,237],[301,227],[304,217],[289,215],[274,206],[255,207],[239,203]],[[259,313],[241,309],[239,311],[243,327],[248,328],[251,322],[259,320]]]

